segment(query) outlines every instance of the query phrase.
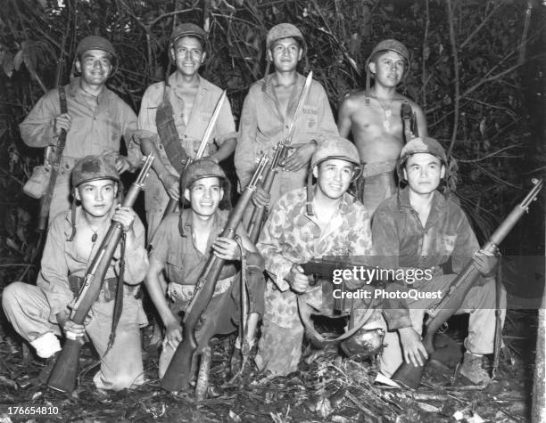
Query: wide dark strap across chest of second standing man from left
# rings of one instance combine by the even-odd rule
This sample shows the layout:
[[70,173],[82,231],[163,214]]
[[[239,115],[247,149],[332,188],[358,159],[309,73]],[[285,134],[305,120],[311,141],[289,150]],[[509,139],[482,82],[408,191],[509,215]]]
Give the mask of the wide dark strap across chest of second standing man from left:
[[178,174],[181,175],[184,171],[188,156],[178,139],[178,130],[174,122],[169,91],[170,85],[168,81],[165,81],[163,101],[157,107],[155,113],[155,125],[157,126],[157,133],[159,134],[161,144],[163,144],[170,164],[177,170]]

